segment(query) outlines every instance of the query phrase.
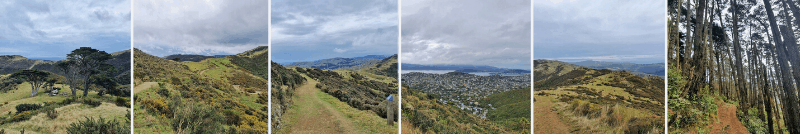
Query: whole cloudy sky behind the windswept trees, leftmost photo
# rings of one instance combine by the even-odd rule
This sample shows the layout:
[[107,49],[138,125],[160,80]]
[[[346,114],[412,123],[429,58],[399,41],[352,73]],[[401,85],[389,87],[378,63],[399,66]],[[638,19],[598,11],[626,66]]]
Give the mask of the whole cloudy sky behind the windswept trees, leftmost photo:
[[131,47],[129,0],[0,1],[0,55],[60,60],[92,47]]

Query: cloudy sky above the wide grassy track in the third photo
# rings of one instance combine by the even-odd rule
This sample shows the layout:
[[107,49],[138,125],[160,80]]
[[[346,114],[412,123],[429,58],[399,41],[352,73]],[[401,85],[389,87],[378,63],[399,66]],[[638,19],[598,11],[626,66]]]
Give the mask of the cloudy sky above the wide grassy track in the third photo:
[[398,52],[397,0],[272,0],[277,63]]

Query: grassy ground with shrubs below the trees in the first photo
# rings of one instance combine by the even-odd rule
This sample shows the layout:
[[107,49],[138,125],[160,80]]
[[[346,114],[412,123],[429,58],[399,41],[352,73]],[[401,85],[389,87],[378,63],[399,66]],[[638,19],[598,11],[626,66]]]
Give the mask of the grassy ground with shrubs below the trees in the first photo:
[[[36,96],[29,97],[31,85],[27,82],[15,85],[16,89],[0,92],[0,130],[6,133],[66,133],[70,124],[84,121],[85,118],[104,118],[117,120],[119,125],[130,126],[128,119],[129,99],[117,105],[117,97],[98,96],[97,92],[89,92],[89,96],[73,99],[69,86],[56,84],[63,88],[59,95],[49,96],[48,90],[39,90]],[[89,105],[97,102],[97,106]],[[37,110],[19,112],[16,107],[22,104],[43,106]],[[50,118],[46,111],[53,110],[55,118]],[[29,114],[26,114],[29,113]],[[18,120],[21,119],[21,120]]]

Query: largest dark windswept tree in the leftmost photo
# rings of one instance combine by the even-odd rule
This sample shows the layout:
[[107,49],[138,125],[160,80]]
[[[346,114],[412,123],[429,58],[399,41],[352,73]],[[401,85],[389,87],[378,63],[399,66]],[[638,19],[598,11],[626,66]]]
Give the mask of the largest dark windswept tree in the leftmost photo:
[[80,79],[83,79],[83,96],[89,94],[89,85],[94,83],[92,76],[116,71],[111,70],[113,69],[111,64],[106,63],[107,60],[112,58],[111,54],[91,47],[81,47],[67,54],[67,61],[71,61],[69,63],[74,64],[72,66],[75,67],[73,71],[78,74]]

